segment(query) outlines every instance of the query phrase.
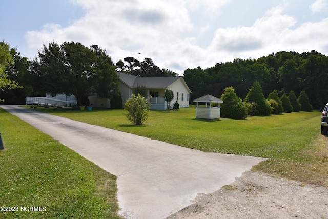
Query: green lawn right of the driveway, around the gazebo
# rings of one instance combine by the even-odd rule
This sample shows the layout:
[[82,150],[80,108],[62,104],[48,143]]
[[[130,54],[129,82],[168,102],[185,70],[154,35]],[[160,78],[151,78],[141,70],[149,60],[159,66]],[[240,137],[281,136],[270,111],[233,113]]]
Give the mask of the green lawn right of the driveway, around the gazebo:
[[195,119],[192,106],[151,111],[144,125],[134,126],[124,110],[37,110],[204,152],[265,157],[253,170],[328,187],[327,138],[320,134],[318,111],[209,121]]

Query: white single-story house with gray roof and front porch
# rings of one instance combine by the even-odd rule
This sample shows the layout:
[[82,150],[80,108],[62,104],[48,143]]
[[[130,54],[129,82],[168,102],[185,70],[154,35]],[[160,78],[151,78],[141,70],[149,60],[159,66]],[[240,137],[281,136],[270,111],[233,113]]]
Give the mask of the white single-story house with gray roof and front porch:
[[[174,95],[174,99],[170,103],[171,108],[176,101],[180,108],[189,107],[191,91],[182,77],[138,77],[121,72],[118,72],[118,76],[123,105],[137,86],[145,86],[147,98],[152,104],[151,109],[167,109],[167,103],[163,98],[165,89],[171,90]],[[151,98],[149,98],[150,96]]]

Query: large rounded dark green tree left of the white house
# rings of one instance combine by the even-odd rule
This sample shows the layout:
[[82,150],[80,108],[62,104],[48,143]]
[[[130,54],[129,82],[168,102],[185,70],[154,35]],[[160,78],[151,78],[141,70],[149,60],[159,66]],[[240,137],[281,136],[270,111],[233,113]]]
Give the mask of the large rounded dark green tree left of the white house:
[[73,94],[78,106],[94,93],[111,98],[119,91],[112,60],[97,45],[88,48],[81,43],[52,42],[44,45],[34,62],[44,89],[52,94]]

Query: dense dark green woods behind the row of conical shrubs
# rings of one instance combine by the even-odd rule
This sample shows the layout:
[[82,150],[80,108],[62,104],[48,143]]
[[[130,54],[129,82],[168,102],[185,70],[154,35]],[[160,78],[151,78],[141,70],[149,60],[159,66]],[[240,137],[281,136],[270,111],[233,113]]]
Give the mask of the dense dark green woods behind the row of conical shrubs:
[[211,94],[220,97],[227,87],[245,99],[254,82],[262,87],[265,98],[276,90],[279,97],[291,91],[299,96],[304,91],[311,105],[320,109],[328,102],[328,57],[317,52],[277,52],[258,59],[236,58],[214,67],[187,69],[183,78],[193,99]]

